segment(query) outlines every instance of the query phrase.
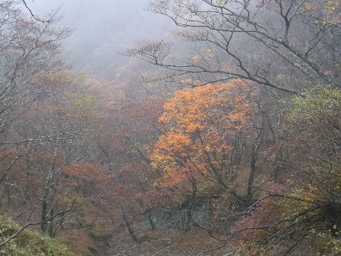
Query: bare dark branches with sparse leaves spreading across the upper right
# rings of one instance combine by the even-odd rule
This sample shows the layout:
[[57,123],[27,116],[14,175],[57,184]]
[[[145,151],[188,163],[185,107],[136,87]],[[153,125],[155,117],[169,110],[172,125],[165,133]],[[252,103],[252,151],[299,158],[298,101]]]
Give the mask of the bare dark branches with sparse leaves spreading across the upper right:
[[[183,28],[175,32],[178,36],[207,44],[217,51],[216,63],[229,64],[193,59],[177,64],[168,58],[171,44],[163,41],[126,51],[168,69],[168,80],[181,82],[182,76],[193,75],[205,85],[242,78],[294,94],[309,82],[340,86],[340,7],[334,2],[156,0],[149,6]],[[290,75],[291,84],[283,75]]]

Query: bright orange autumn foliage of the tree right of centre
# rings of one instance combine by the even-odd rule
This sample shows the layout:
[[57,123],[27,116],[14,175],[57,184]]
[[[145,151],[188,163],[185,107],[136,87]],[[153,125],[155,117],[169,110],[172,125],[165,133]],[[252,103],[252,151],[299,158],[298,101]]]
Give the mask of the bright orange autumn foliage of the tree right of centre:
[[175,186],[186,177],[212,181],[231,174],[234,138],[251,122],[255,93],[242,80],[176,92],[164,106],[159,120],[166,134],[151,156],[163,172],[158,183]]

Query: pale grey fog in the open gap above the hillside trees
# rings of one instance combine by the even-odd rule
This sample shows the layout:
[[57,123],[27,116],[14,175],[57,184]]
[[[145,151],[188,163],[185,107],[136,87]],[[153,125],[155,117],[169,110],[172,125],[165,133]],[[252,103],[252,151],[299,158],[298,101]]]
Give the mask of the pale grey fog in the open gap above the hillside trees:
[[136,41],[171,36],[171,22],[147,11],[147,0],[35,0],[27,1],[33,14],[42,17],[59,9],[60,24],[72,28],[64,42],[66,59],[77,71],[104,79],[115,77],[132,60],[119,55]]

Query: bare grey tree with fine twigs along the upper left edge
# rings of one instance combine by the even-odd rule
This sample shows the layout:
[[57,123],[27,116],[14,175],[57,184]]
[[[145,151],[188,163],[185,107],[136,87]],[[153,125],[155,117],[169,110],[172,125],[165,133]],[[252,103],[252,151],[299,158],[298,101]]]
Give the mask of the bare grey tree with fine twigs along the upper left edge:
[[27,18],[14,1],[0,4],[0,146],[2,150],[12,146],[21,148],[20,153],[9,156],[6,168],[1,171],[1,182],[18,158],[43,140],[60,137],[60,134],[39,132],[23,134],[33,122],[23,120],[24,114],[35,102],[60,90],[45,83],[43,78],[45,74],[63,68],[58,58],[58,43],[70,35],[67,28],[56,28],[58,18],[55,15],[50,16],[49,23],[37,23]]

